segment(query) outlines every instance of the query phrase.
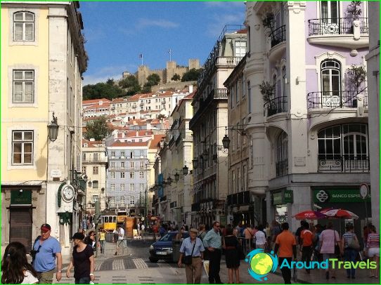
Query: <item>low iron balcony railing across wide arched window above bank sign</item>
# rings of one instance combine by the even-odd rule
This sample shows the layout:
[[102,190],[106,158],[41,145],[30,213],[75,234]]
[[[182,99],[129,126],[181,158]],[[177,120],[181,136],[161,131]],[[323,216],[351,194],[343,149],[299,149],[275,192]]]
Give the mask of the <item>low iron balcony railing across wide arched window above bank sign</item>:
[[[330,157],[332,159],[330,159]],[[364,155],[330,155],[318,158],[318,171],[341,173],[368,173],[370,171],[369,157]]]

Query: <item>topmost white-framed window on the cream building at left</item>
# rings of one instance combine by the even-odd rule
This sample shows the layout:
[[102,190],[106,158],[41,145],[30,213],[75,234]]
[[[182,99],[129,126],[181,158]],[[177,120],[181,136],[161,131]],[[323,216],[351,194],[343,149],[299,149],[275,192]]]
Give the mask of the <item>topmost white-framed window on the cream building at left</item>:
[[34,41],[34,14],[26,11],[13,14],[13,41]]

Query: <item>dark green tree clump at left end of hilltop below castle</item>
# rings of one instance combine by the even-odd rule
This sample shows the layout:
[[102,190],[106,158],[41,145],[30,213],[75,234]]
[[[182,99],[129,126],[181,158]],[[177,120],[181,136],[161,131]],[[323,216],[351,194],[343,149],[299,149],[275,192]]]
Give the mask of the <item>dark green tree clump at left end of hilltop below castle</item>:
[[[108,79],[110,82],[112,79]],[[82,89],[84,100],[106,98],[112,100],[125,95],[125,92],[115,84],[98,82],[97,84],[85,85]]]

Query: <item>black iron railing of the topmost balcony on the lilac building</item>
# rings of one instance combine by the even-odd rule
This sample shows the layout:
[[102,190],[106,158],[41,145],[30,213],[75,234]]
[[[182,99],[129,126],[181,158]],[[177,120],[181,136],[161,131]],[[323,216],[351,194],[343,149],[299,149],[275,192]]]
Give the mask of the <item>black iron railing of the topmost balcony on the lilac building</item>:
[[[353,34],[353,20],[353,18],[320,18],[308,20],[309,36]],[[360,34],[368,34],[368,18],[358,18],[357,20],[360,22]]]

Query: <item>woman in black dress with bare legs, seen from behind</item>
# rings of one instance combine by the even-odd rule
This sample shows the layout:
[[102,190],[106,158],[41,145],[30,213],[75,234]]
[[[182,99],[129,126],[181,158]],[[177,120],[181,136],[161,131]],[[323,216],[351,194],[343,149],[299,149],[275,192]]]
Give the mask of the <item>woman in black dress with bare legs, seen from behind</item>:
[[226,267],[228,267],[228,284],[233,284],[233,272],[235,284],[240,284],[240,256],[238,253],[238,239],[233,234],[233,228],[226,228],[223,247],[225,249]]

